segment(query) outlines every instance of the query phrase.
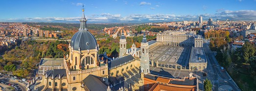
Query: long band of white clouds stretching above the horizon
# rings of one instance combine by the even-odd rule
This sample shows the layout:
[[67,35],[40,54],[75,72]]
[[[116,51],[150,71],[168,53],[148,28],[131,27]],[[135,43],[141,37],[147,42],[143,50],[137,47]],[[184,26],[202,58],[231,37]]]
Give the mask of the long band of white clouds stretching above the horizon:
[[[201,14],[201,15],[174,15],[174,14],[130,14],[128,16],[121,16],[121,14],[92,14],[86,16],[88,22],[97,23],[139,23],[139,22],[169,22],[169,21],[198,21],[198,17],[202,16],[203,20],[209,18],[218,20],[234,20],[234,21],[256,21],[256,10],[223,10],[215,14]],[[25,19],[1,19],[0,22],[76,22],[81,17],[47,17],[47,18],[25,18]]]

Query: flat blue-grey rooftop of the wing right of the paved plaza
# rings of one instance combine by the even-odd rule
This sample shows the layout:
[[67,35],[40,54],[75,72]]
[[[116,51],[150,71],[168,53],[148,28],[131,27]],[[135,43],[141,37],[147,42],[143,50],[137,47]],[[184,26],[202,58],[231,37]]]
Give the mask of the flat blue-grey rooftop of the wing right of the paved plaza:
[[193,47],[191,49],[190,63],[206,63],[206,56],[203,47]]

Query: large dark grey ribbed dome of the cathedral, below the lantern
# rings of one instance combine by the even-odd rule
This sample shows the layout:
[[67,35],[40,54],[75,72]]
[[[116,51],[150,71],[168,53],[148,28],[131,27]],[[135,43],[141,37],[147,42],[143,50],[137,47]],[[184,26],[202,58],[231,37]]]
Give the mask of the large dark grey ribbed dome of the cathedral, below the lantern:
[[70,45],[74,50],[79,50],[79,47],[80,50],[90,50],[97,48],[97,41],[89,31],[78,31],[71,38]]

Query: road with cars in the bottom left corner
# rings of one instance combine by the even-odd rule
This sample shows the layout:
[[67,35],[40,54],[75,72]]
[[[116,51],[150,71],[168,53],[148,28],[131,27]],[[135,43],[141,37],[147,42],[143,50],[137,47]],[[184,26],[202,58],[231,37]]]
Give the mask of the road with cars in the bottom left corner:
[[[11,78],[10,76],[6,76],[6,75],[2,75],[3,77],[0,79],[0,81],[3,81],[5,83],[10,83],[10,84],[18,84],[17,86],[19,86],[21,88],[22,91],[26,91],[26,87],[24,87],[22,85],[22,83],[20,82],[15,82],[15,81],[10,81],[9,79]],[[7,79],[6,79],[7,78]]]

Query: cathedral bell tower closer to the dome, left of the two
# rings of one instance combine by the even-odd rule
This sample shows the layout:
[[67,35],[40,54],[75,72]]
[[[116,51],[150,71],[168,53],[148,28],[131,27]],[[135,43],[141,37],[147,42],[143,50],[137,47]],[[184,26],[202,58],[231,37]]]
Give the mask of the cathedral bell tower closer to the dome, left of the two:
[[124,56],[124,54],[126,52],[126,38],[125,38],[125,36],[123,34],[123,30],[122,30],[122,35],[120,37],[119,44],[120,44],[119,45],[119,47],[120,47],[120,49],[119,49],[119,57],[121,58],[121,57]]

